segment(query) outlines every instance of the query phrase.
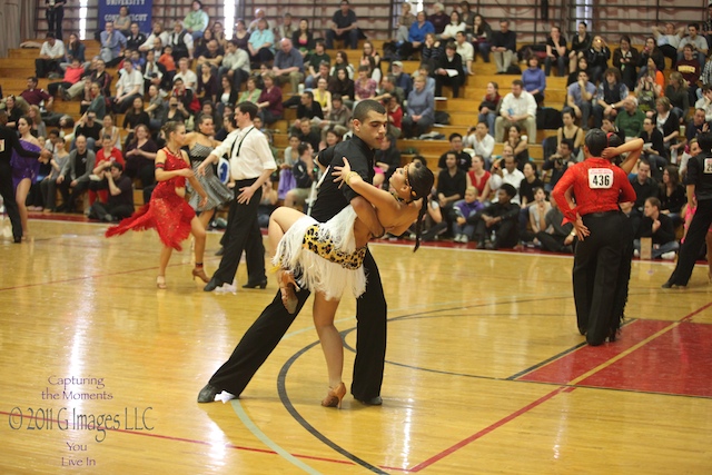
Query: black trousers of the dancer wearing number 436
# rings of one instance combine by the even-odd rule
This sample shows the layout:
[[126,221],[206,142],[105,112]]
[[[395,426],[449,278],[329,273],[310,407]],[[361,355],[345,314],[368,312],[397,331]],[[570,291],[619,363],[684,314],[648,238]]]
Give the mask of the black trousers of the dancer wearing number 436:
[[578,330],[589,345],[605,342],[620,315],[615,313],[620,268],[626,243],[633,239],[627,217],[621,211],[583,217],[591,235],[578,241],[574,255],[573,286]]

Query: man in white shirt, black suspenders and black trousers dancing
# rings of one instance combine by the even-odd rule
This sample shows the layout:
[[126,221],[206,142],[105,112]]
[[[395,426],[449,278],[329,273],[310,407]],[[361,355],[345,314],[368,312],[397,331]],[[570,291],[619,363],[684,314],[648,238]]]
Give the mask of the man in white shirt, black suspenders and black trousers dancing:
[[[265,288],[265,246],[257,222],[257,209],[263,196],[263,184],[277,169],[267,138],[257,130],[253,120],[257,117],[257,106],[240,102],[235,109],[235,123],[238,130],[230,132],[200,166],[202,169],[217,162],[229,152],[230,176],[235,180],[235,199],[230,201],[227,229],[225,231],[225,253],[220,266],[205,286],[212,291],[222,284],[233,284],[243,251],[247,259],[247,283],[244,288]],[[198,172],[201,172],[198,169]]]

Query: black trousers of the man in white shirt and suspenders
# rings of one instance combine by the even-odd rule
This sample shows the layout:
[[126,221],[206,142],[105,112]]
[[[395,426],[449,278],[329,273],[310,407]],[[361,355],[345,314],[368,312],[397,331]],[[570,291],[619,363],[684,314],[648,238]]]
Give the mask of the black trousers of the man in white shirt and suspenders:
[[[235,182],[235,194],[239,195],[239,189],[251,186],[257,179],[237,180]],[[259,188],[250,198],[248,204],[237,202],[237,197],[230,202],[227,216],[228,238],[225,243],[225,254],[220,260],[220,266],[215,271],[212,278],[218,284],[231,284],[237,274],[243,251],[247,258],[247,275],[250,283],[259,283],[265,276],[265,246],[263,245],[263,234],[257,222],[257,208],[263,198],[263,190]]]

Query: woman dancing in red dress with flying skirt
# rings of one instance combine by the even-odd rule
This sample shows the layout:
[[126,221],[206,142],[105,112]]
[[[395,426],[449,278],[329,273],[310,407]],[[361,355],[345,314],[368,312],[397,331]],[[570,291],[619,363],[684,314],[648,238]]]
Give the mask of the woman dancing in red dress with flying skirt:
[[180,150],[185,142],[186,126],[180,122],[168,122],[164,126],[166,147],[156,154],[156,181],[151,200],[144,205],[130,218],[123,219],[117,226],[107,229],[106,236],[121,235],[130,229],[140,231],[156,228],[164,245],[160,251],[158,277],[156,286],[166,288],[166,267],[174,249],[181,250],[180,241],[189,234],[196,239],[195,256],[196,267],[192,276],[208,281],[208,276],[202,269],[202,255],[205,253],[205,228],[196,217],[196,211],[186,202],[186,179],[202,198],[200,206],[208,201],[200,182],[190,169],[188,155]]

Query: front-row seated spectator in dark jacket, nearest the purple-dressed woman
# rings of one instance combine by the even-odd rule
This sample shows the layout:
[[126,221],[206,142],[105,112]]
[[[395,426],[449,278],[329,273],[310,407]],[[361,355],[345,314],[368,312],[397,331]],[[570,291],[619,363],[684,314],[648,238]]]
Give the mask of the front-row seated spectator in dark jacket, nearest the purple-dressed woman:
[[95,152],[87,148],[85,136],[77,136],[75,145],[77,148],[69,154],[69,159],[57,178],[62,195],[62,205],[58,211],[75,212],[77,199],[89,189],[89,176],[97,160]]

